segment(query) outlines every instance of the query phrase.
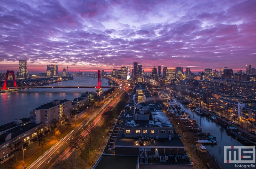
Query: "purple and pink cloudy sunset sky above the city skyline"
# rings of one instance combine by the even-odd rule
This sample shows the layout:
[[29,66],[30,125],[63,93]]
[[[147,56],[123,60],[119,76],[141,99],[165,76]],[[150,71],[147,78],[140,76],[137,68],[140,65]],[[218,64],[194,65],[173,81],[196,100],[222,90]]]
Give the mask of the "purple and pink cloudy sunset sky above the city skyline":
[[[0,72],[256,68],[255,0],[3,0]],[[184,69],[183,68],[183,69]]]

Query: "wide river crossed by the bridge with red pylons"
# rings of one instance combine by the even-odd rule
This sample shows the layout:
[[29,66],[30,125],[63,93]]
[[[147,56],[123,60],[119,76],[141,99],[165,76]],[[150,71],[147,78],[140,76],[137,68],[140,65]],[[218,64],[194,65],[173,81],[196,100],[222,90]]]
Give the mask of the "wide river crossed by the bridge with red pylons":
[[[73,80],[52,83],[49,86],[97,86],[98,78],[74,77]],[[101,86],[108,86],[108,80],[101,78]],[[108,88],[102,88],[102,91]],[[37,106],[56,99],[73,100],[83,92],[96,92],[95,88],[34,88],[0,93],[0,125],[29,116],[29,112]],[[101,93],[99,92],[99,93]]]

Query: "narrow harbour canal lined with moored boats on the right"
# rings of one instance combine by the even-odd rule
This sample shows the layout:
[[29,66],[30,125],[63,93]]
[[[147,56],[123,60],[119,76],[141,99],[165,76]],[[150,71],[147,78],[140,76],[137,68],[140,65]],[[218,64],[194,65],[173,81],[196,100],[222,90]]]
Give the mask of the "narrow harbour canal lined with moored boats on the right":
[[[176,100],[177,101],[177,100]],[[185,110],[193,118],[193,112],[189,110],[187,105],[181,104],[179,101],[177,103],[180,105],[180,110]],[[194,113],[194,119],[198,120],[198,126],[202,128],[203,132],[211,133],[212,136],[216,137],[217,144],[214,145],[204,145],[206,149],[213,154],[222,168],[234,168],[235,163],[224,163],[224,146],[243,146],[242,143],[238,142],[236,139],[232,138],[226,133],[226,129],[220,125],[213,122],[210,118],[202,117]],[[224,119],[223,119],[224,120]]]

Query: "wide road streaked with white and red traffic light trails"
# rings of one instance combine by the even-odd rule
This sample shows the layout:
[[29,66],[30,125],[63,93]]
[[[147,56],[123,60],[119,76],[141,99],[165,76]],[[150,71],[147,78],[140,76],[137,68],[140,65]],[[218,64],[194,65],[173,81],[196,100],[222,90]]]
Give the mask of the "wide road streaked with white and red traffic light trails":
[[[124,91],[123,91],[124,92]],[[120,92],[120,94],[116,93],[113,96],[113,100],[117,100],[121,97],[123,92]],[[42,156],[36,159],[34,163],[32,163],[30,166],[27,167],[27,169],[43,169],[45,168],[49,163],[51,159],[56,158],[59,156],[58,151],[63,151],[74,139],[75,134],[77,131],[81,131],[82,128],[86,125],[88,125],[90,122],[95,121],[96,123],[100,120],[101,111],[105,110],[108,106],[112,106],[115,101],[111,102],[112,99],[109,99],[106,101],[102,106],[98,108],[98,110],[92,114],[90,114],[86,119],[86,123],[81,122],[76,126],[76,128],[72,131],[70,131],[65,137],[63,137],[58,143],[56,143],[52,148],[50,148],[48,151],[46,151]],[[96,117],[96,118],[95,118]],[[67,149],[68,150],[68,149]],[[66,151],[65,151],[66,152]],[[64,153],[65,153],[64,152]]]

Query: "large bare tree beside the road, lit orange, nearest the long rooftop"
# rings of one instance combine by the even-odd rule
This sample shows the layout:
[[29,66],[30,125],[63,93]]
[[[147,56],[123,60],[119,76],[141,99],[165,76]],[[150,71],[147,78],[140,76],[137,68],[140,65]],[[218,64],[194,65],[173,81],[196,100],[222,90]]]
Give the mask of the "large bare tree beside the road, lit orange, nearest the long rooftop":
[[95,153],[102,143],[99,126],[94,122],[87,125],[84,129],[87,135],[82,135],[81,132],[76,133],[76,139],[71,143],[71,147],[76,151],[80,151],[82,155],[88,160],[89,164],[92,164],[91,155]]

